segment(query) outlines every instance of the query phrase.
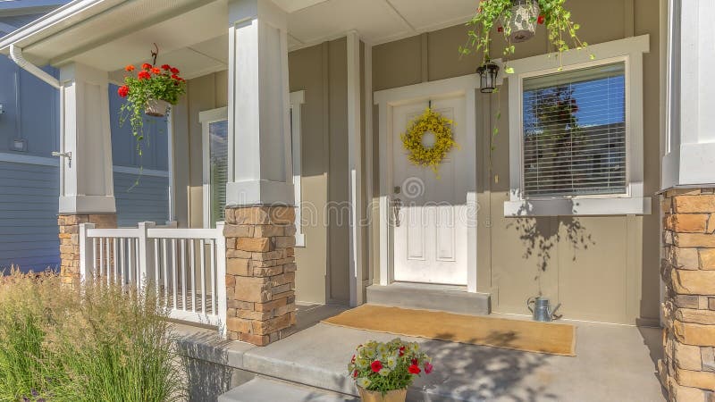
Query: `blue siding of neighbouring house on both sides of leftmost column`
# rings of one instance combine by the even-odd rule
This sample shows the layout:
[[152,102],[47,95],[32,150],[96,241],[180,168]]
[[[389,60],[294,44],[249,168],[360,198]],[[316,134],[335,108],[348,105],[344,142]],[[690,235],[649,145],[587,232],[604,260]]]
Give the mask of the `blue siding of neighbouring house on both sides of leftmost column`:
[[[66,3],[58,1],[57,4]],[[34,13],[1,14],[0,36],[7,27],[20,27],[40,16]],[[43,70],[57,77],[52,67]],[[122,99],[110,86],[110,115],[114,165],[114,195],[117,220],[121,226],[169,218],[168,130],[166,119],[151,118],[145,125],[149,139],[139,159],[129,124],[120,127]],[[59,265],[57,208],[59,160],[50,153],[59,150],[59,92],[21,70],[6,57],[0,57],[0,270],[11,264],[23,271],[56,269]],[[15,143],[24,144],[16,150]],[[139,185],[132,186],[137,174],[126,167],[143,166],[161,171],[159,176],[145,173]]]

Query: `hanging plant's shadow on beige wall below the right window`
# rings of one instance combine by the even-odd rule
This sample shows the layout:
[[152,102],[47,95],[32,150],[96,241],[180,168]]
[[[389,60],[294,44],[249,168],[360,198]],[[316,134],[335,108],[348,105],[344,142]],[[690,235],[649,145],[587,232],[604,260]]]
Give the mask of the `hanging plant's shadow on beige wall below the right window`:
[[[571,211],[576,213],[578,204],[573,200],[569,200],[569,203]],[[571,244],[574,251],[573,261],[576,261],[578,250],[586,250],[589,246],[594,246],[596,242],[578,218],[558,216],[555,217],[558,224],[552,225],[536,216],[528,216],[533,212],[533,206],[526,203],[517,211],[517,215],[522,217],[512,218],[513,222],[509,222],[507,228],[517,230],[519,239],[525,247],[524,259],[536,258],[537,269],[534,281],[537,281],[539,285],[538,296],[542,296],[542,272],[549,268],[551,253],[555,251],[556,247],[559,247],[559,242],[563,240]]]

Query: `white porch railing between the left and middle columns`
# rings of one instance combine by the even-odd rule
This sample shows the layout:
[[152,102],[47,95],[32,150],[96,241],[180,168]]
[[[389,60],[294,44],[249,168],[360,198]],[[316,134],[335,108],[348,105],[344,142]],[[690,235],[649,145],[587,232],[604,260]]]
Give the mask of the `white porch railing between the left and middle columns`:
[[226,322],[226,243],[216,229],[137,228],[80,224],[80,276],[125,286],[155,285],[171,318],[218,326]]

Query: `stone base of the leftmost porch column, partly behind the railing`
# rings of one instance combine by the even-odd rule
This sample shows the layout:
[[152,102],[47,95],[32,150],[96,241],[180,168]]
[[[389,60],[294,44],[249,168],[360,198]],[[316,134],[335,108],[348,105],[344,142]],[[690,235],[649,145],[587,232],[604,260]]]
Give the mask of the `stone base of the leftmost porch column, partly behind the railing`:
[[80,223],[94,223],[98,229],[117,227],[116,214],[59,214],[60,277],[66,284],[80,282]]

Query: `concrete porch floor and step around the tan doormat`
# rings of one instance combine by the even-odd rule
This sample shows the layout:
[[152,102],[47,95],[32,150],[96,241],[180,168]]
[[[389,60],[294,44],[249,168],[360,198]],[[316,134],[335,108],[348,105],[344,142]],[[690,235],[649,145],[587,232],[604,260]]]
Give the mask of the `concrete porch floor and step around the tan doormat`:
[[[357,395],[346,373],[354,348],[366,339],[394,335],[320,323],[343,309],[300,306],[299,331],[265,348],[222,341],[214,331],[177,324],[181,345],[192,357],[188,374],[190,385],[199,388],[195,398],[216,398],[257,374]],[[665,400],[655,374],[660,328],[571,323],[577,326],[576,357],[402,337],[420,342],[435,365],[434,373],[409,390],[408,400]]]

